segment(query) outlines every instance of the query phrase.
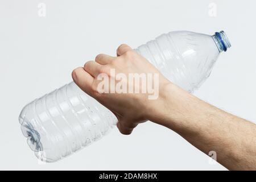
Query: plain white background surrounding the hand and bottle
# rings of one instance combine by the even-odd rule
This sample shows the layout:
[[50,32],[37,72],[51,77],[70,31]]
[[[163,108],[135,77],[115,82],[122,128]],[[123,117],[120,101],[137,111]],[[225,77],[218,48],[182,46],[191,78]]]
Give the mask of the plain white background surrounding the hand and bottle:
[[[38,4],[46,4],[46,17]],[[216,3],[216,17],[209,4]],[[256,121],[256,1],[0,0],[0,169],[225,169],[173,131],[147,122],[117,129],[56,163],[40,164],[18,122],[22,107],[72,80],[73,68],[175,30],[224,30],[232,48],[219,57],[199,98]]]

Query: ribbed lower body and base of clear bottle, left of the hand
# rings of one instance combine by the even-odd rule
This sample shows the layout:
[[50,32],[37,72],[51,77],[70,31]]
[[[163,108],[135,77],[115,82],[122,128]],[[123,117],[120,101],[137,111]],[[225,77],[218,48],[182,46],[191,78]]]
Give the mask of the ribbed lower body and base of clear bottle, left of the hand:
[[54,162],[101,138],[117,118],[71,82],[25,106],[19,121],[36,156]]

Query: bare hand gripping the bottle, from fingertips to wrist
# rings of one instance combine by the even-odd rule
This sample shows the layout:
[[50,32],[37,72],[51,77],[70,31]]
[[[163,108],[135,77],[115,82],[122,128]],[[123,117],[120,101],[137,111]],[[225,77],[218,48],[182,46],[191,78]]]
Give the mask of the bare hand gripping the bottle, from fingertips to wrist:
[[[111,74],[113,71],[115,75]],[[111,84],[104,86],[104,93],[102,93],[101,87],[99,88],[100,84],[102,84],[102,80],[99,80],[99,76],[102,76],[101,73],[105,74],[109,81],[115,81],[114,86]],[[128,79],[118,79],[118,73],[122,73],[122,76],[126,76],[126,78],[129,78],[129,73],[151,74],[154,78],[152,79],[155,83],[154,86],[158,87],[154,88],[154,92],[160,92],[157,93],[155,100],[150,100],[149,98],[152,94],[148,92],[142,93],[142,81],[131,83]],[[158,75],[158,77],[154,77],[154,74]],[[72,72],[72,77],[84,92],[94,97],[115,114],[118,118],[117,127],[122,134],[130,134],[138,123],[145,122],[151,118],[152,111],[155,108],[160,108],[159,101],[164,102],[164,88],[166,88],[166,85],[171,84],[144,57],[138,55],[125,44],[118,47],[117,57],[100,54],[95,61],[88,61],[83,68],[75,69]],[[118,90],[115,90],[118,84],[123,85],[123,87],[126,85],[127,92],[118,93]],[[135,91],[129,93],[128,89],[137,89],[139,93],[134,93]]]

